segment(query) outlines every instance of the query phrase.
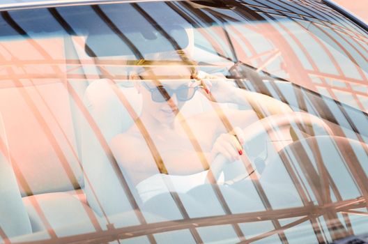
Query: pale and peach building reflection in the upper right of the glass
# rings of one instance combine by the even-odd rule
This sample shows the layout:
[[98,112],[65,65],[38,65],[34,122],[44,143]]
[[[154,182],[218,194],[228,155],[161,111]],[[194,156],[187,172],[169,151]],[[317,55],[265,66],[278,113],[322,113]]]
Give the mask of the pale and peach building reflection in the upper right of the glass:
[[[303,4],[289,1],[268,6],[252,1],[247,5],[254,10],[252,16],[247,16],[251,20],[275,20],[275,24],[257,22],[229,29],[238,60],[330,98],[344,99],[365,111],[368,90],[364,32],[342,15],[332,15],[320,3]],[[217,22],[232,17],[211,15]],[[230,56],[226,47],[215,51]]]

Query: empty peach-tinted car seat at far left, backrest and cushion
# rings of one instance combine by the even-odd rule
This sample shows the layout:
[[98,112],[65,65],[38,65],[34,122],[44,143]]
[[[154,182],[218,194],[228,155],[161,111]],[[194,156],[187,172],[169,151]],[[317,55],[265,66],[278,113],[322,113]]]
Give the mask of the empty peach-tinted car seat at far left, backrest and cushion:
[[0,111],[8,151],[2,151],[0,172],[1,218],[8,217],[0,222],[6,234],[45,229],[61,234],[57,229],[82,221],[90,224],[70,231],[77,234],[98,227],[95,214],[83,202],[83,172],[66,86],[60,81],[20,86],[4,82]]

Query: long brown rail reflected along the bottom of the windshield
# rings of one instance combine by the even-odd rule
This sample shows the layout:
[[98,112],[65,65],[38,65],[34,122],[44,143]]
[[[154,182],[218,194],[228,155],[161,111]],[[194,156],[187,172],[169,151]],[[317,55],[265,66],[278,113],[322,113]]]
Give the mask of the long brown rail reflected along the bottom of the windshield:
[[[165,231],[176,231],[181,229],[188,229],[190,227],[209,227],[215,225],[234,224],[234,223],[246,223],[246,222],[262,222],[268,220],[282,220],[287,218],[299,218],[289,224],[285,224],[279,229],[268,231],[266,233],[254,236],[251,239],[245,241],[245,243],[251,241],[257,241],[261,238],[266,238],[273,234],[277,234],[280,231],[295,227],[296,225],[306,222],[309,218],[319,218],[323,216],[325,211],[332,210],[337,213],[354,213],[359,215],[366,215],[367,213],[360,211],[352,211],[355,208],[363,208],[367,204],[364,197],[357,199],[339,201],[337,203],[326,204],[325,206],[316,206],[312,203],[307,204],[300,208],[286,208],[279,210],[259,211],[251,213],[235,213],[231,215],[221,215],[206,218],[191,218],[188,220],[175,220],[175,222],[158,222],[153,224],[141,224],[134,227],[123,227],[110,229],[106,231],[96,231],[91,234],[78,234],[75,236],[66,236],[57,238],[61,243],[84,243],[85,241],[96,242],[108,242],[116,239],[126,239],[137,236],[146,236],[148,234],[158,234]],[[317,224],[317,223],[316,223]],[[50,243],[49,240],[27,242],[31,243]]]

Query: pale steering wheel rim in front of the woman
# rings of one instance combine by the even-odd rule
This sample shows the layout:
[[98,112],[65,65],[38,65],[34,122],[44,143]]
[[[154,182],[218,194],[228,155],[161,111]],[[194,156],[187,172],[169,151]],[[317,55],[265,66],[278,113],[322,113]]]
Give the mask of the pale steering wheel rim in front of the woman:
[[[325,123],[325,121],[323,121],[319,117],[312,114],[307,114],[305,112],[291,112],[286,114],[275,114],[272,116],[268,116],[252,123],[251,125],[248,125],[247,128],[243,130],[244,135],[246,135],[246,142],[244,144],[251,142],[253,139],[259,137],[265,132],[268,133],[273,131],[275,128],[283,128],[285,126],[291,126],[293,124],[304,126],[307,125],[308,127],[313,128],[313,130],[315,130],[316,132],[325,132],[327,133],[327,135],[334,135],[327,123]],[[217,182],[222,171],[224,171],[224,167],[228,163],[230,163],[228,161],[229,160],[227,160],[227,158],[225,158],[223,155],[217,155],[215,160],[213,160],[213,162],[211,163],[210,169],[208,170],[206,183],[210,183],[210,179],[213,178]],[[250,170],[250,174],[252,174],[254,169]],[[226,171],[224,171],[224,174],[225,173]],[[247,174],[247,176],[250,174]]]

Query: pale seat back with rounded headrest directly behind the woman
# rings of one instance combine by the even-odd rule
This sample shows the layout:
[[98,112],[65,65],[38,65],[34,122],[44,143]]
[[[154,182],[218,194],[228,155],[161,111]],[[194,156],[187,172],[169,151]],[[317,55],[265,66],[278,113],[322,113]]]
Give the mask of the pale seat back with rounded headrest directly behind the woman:
[[[134,90],[126,89],[124,94],[139,111],[140,99]],[[112,137],[130,127],[132,119],[108,80],[90,84],[84,103],[91,114],[90,119],[82,121],[82,162],[89,206],[100,215],[132,210],[127,192],[114,171],[114,158],[107,145]]]

